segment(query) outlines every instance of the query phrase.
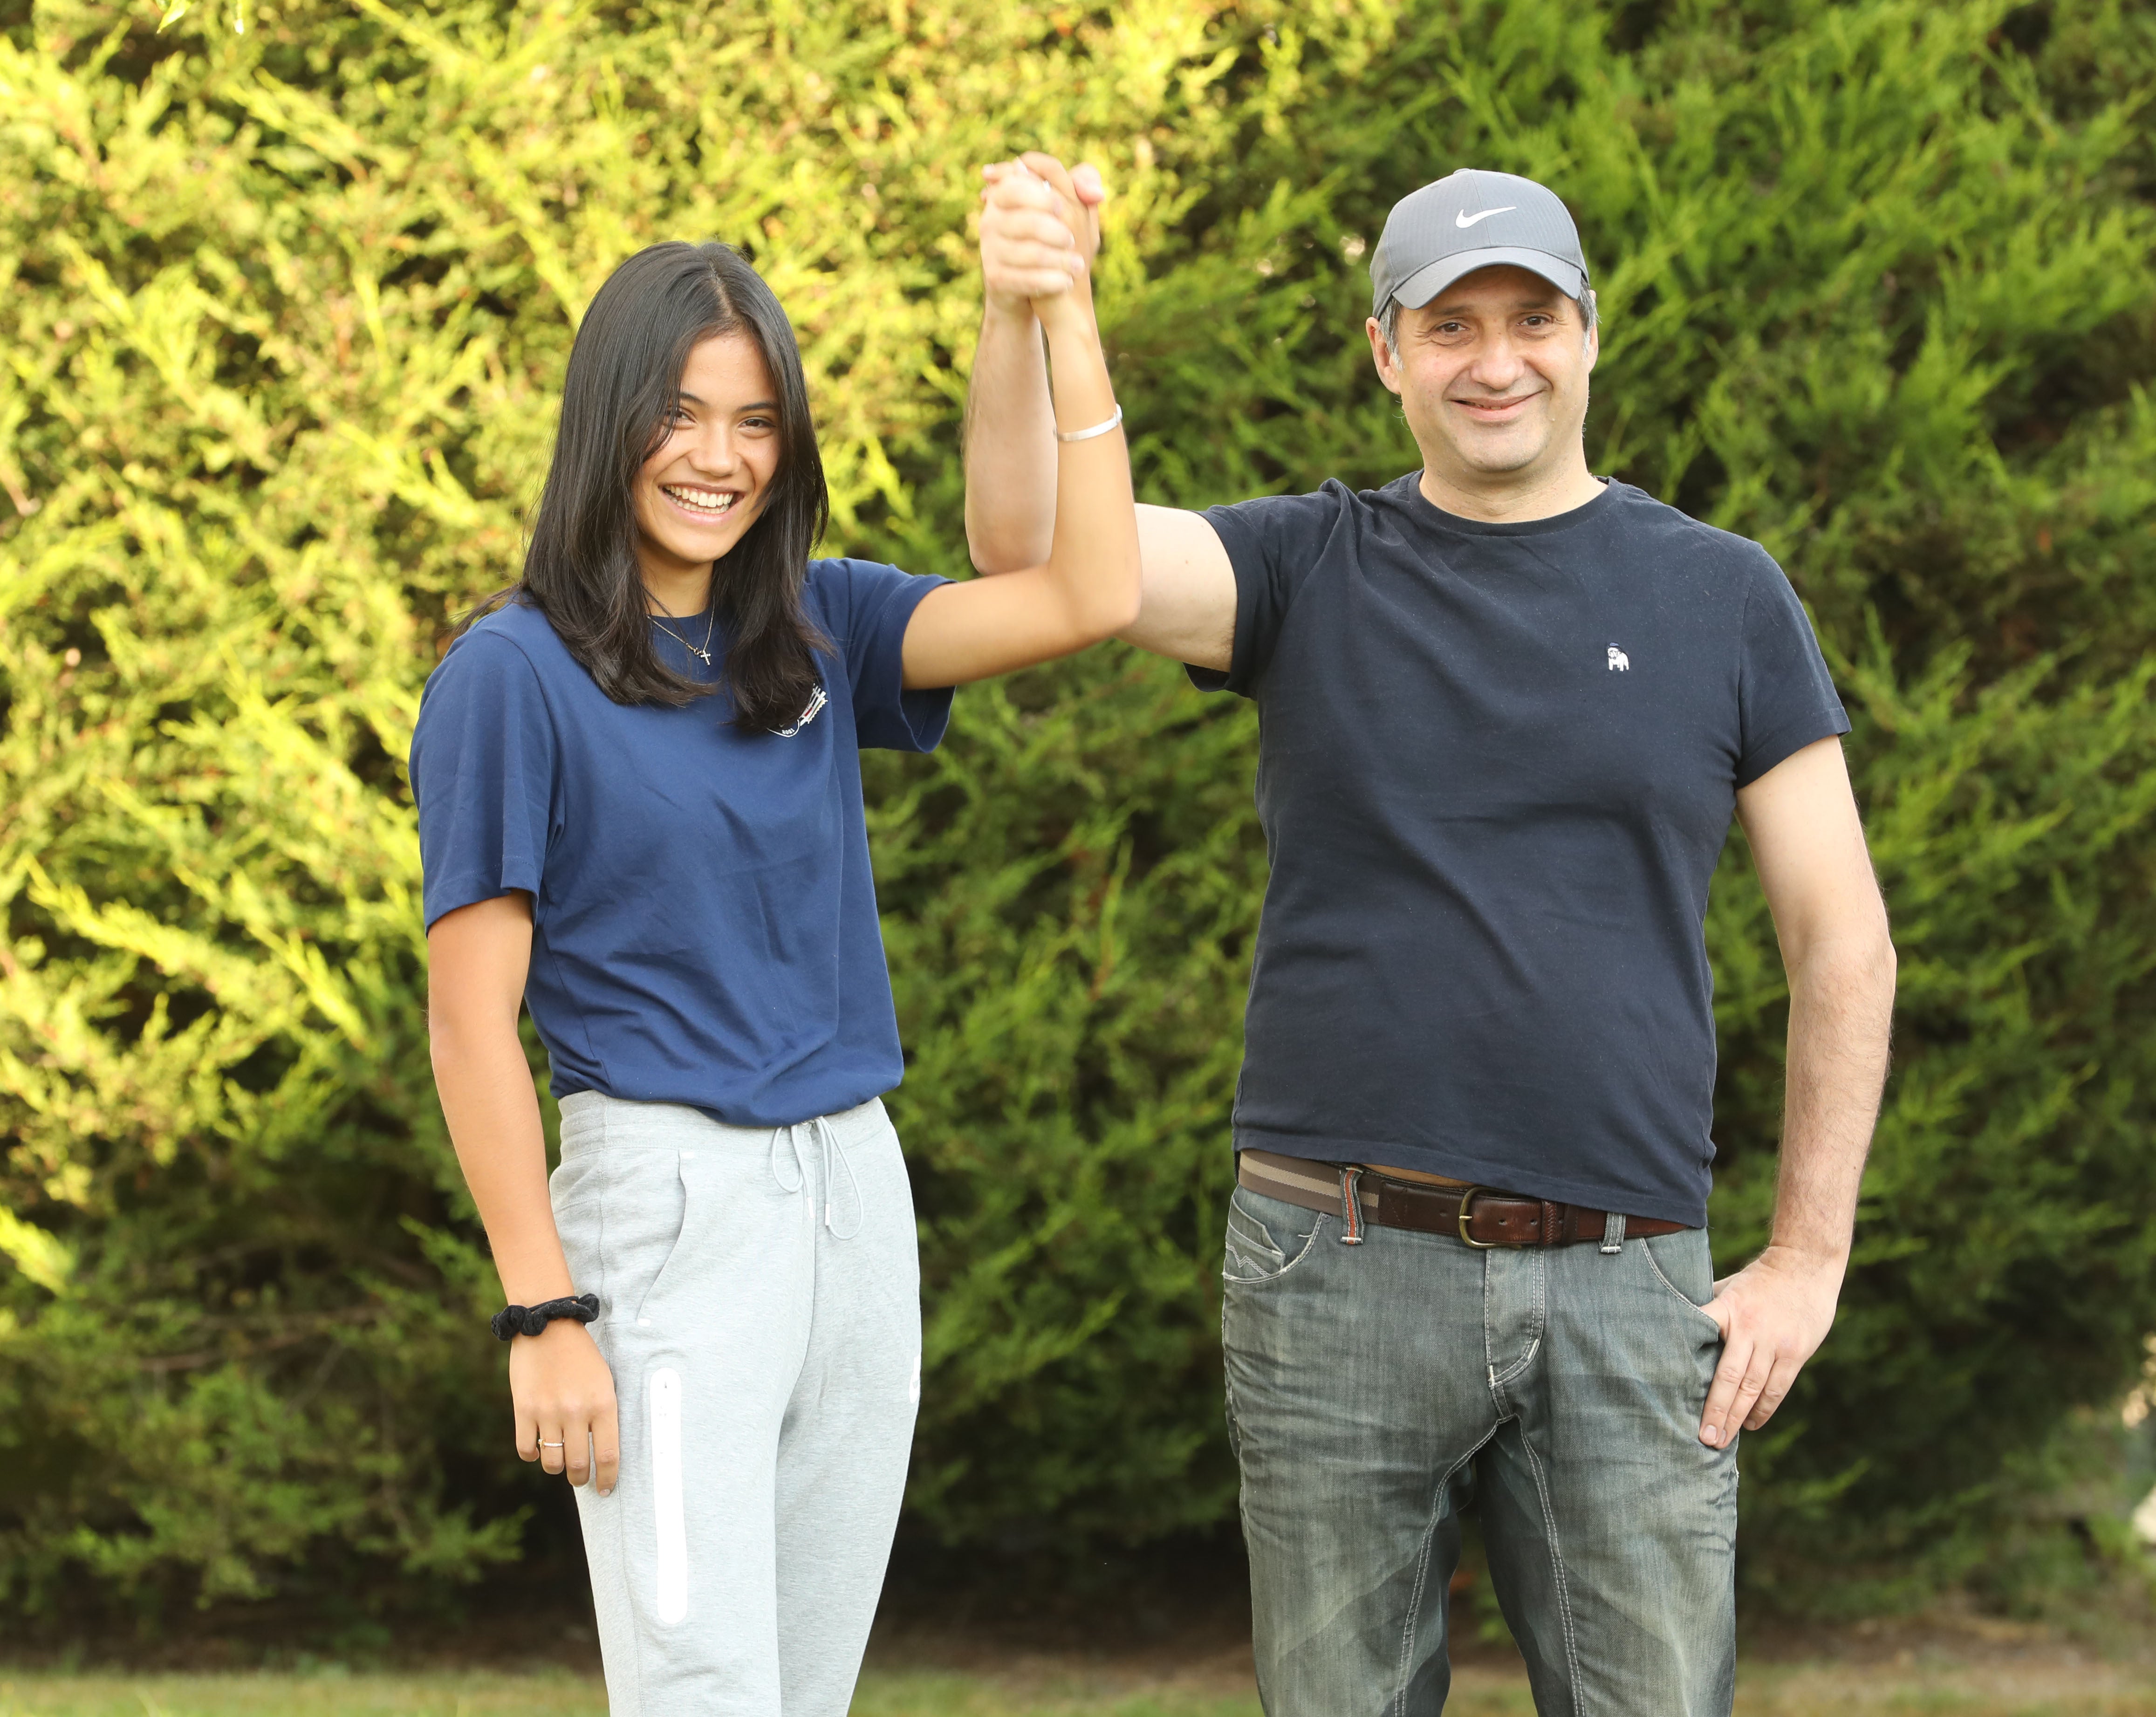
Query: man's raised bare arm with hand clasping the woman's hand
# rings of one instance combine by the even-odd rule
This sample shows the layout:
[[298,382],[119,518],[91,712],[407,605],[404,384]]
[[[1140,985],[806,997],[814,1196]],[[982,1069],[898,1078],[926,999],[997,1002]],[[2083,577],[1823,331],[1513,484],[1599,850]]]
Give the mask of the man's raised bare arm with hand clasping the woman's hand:
[[[1048,559],[1056,528],[1056,440],[1041,330],[1031,300],[1082,293],[1091,311],[1100,175],[1052,155],[985,168],[981,343],[966,397],[966,548],[979,572]],[[1235,647],[1235,572],[1201,513],[1138,507],[1145,597],[1117,636],[1177,662],[1227,669]]]

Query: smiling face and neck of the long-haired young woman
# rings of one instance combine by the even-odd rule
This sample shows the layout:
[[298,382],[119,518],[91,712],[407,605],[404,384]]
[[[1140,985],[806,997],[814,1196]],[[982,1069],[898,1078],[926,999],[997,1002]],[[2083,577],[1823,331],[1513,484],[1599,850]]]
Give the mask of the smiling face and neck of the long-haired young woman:
[[748,334],[699,341],[666,438],[636,472],[636,561],[668,610],[699,613],[711,563],[757,522],[778,475],[778,388]]

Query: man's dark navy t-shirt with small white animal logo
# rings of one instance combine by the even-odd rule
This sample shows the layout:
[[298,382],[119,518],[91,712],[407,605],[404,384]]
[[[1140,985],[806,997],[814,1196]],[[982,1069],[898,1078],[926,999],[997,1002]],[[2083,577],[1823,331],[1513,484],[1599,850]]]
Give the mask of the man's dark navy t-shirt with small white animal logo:
[[1764,548],[1626,483],[1479,524],[1419,472],[1214,507],[1272,880],[1238,1148],[1705,1223],[1708,882],[1848,718]]

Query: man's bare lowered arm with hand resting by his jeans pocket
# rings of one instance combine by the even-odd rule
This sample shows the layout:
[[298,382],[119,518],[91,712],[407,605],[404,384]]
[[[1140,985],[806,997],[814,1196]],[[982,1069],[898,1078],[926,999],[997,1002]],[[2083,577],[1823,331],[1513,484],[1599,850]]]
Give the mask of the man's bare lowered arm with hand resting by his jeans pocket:
[[1789,973],[1787,1096],[1768,1249],[1718,1283],[1723,1359],[1699,1439],[1764,1426],[1835,1322],[1887,1046],[1895,956],[1841,740],[1738,792],[1738,820]]

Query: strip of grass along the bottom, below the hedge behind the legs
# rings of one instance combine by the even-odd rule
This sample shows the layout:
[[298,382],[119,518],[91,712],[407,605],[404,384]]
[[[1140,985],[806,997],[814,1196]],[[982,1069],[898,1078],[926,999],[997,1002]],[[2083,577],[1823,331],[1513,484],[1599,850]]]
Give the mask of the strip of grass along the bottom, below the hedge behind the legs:
[[[1464,1670],[1447,1717],[1531,1717],[1518,1676]],[[0,1717],[604,1717],[595,1680],[554,1674],[125,1676],[0,1670]],[[856,1717],[1259,1717],[1248,1693],[1138,1687],[1078,1674],[1018,1680],[931,1670],[871,1672]],[[1749,1665],[1738,1717],[2156,1717],[2156,1670],[2072,1652],[1968,1663]]]

